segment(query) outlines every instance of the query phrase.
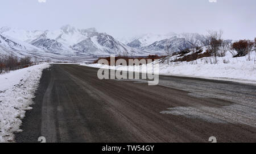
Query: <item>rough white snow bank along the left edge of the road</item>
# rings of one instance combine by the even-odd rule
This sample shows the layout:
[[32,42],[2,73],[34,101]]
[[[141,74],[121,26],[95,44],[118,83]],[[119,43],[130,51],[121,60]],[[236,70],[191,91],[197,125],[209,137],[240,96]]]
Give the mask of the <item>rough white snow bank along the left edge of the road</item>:
[[0,74],[0,142],[12,142],[14,132],[22,131],[22,118],[32,109],[42,70],[48,67],[44,63]]

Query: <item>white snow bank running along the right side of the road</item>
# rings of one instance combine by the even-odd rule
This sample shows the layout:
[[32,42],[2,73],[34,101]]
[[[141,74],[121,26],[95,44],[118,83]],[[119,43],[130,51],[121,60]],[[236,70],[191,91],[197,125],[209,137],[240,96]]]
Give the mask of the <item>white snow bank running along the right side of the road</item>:
[[[175,57],[170,57],[174,59]],[[256,84],[256,53],[248,56],[233,58],[230,52],[225,57],[217,57],[217,64],[210,64],[214,57],[204,57],[192,62],[179,62],[159,64],[159,74],[210,78],[216,80],[228,80],[243,83]],[[108,66],[101,64],[81,64],[95,68],[109,68],[117,70],[134,70],[146,73],[146,65],[142,66]],[[128,67],[128,68],[127,68]]]

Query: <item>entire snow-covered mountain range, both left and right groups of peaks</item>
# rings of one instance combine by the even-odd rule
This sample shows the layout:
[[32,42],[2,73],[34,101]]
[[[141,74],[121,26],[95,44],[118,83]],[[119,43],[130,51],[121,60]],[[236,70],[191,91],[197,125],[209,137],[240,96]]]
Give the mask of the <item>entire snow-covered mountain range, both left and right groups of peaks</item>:
[[79,59],[95,55],[148,55],[163,54],[164,46],[171,51],[201,46],[205,37],[200,34],[166,35],[144,34],[118,41],[113,36],[98,32],[96,28],[79,29],[63,26],[56,31],[26,31],[0,28],[0,53],[17,56],[35,56],[51,59]]

